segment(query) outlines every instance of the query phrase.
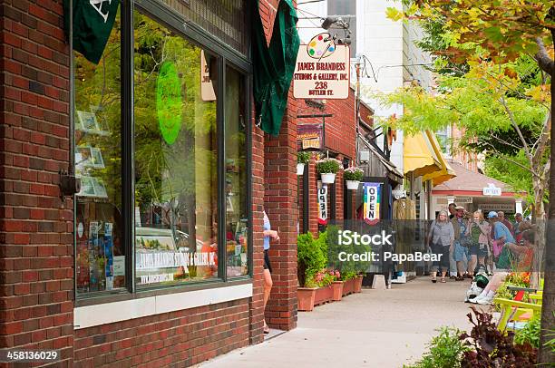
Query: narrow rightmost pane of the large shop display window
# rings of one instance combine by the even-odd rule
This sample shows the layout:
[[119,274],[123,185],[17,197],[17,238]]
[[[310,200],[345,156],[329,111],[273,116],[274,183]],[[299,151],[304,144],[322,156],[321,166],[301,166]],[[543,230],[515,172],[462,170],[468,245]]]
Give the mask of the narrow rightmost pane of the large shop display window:
[[247,127],[244,77],[226,68],[226,249],[228,276],[248,274]]

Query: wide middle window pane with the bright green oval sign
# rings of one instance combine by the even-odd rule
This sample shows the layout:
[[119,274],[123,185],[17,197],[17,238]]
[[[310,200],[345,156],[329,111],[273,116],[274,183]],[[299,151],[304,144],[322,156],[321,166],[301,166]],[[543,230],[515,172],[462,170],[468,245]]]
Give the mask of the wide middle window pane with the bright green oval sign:
[[218,61],[137,12],[134,38],[136,284],[218,277]]

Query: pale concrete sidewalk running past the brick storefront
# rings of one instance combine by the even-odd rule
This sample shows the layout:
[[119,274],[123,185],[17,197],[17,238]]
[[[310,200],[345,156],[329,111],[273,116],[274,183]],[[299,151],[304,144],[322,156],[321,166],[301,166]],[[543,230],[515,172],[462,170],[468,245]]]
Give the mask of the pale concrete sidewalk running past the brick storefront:
[[297,329],[207,363],[217,367],[402,367],[425,351],[434,329],[469,329],[470,281],[420,277],[391,290],[363,289],[341,302],[299,312]]

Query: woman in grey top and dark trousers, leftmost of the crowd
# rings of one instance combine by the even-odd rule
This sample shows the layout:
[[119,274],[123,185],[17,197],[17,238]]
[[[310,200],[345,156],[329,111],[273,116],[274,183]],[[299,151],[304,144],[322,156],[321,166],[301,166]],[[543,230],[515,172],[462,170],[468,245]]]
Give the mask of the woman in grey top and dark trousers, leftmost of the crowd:
[[432,253],[439,256],[439,261],[433,262],[432,282],[437,282],[436,272],[442,275],[442,283],[445,283],[445,275],[449,270],[449,253],[453,251],[454,229],[449,221],[447,211],[442,210],[436,220],[433,220],[432,227],[426,239],[426,244],[432,248]]

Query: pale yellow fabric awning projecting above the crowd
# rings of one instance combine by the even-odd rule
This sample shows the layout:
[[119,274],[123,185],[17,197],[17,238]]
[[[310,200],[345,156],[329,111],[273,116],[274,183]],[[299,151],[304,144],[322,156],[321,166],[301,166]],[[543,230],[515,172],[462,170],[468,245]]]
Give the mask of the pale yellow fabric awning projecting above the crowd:
[[413,171],[415,177],[432,180],[439,185],[455,177],[453,169],[443,158],[442,149],[432,131],[423,131],[404,140],[404,174]]

